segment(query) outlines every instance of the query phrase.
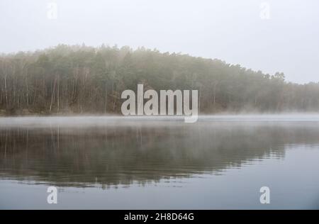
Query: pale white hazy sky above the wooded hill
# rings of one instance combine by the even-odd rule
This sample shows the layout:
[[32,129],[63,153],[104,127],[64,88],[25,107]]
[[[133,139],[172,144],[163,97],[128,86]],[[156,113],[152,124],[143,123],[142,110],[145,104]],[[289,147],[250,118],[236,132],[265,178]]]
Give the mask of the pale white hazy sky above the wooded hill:
[[59,43],[145,46],[319,82],[319,1],[0,0],[0,52]]

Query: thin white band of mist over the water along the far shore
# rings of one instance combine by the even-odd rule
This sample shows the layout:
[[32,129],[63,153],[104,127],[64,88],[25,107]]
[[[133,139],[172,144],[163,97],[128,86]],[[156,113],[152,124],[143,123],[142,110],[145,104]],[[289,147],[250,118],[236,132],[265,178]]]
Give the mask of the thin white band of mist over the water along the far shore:
[[[198,122],[211,121],[319,121],[318,113],[241,114],[198,116]],[[167,125],[168,122],[184,123],[184,116],[23,116],[0,117],[0,128],[40,128],[50,126],[89,127],[108,125]],[[191,123],[188,125],[192,125]]]

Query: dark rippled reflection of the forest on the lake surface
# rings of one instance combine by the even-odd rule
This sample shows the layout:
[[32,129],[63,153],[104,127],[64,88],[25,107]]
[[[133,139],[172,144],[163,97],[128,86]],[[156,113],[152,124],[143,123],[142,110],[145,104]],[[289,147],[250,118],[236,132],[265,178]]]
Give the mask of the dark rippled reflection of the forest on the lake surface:
[[318,125],[196,123],[0,129],[0,177],[56,185],[145,183],[223,172],[285,145],[319,142]]

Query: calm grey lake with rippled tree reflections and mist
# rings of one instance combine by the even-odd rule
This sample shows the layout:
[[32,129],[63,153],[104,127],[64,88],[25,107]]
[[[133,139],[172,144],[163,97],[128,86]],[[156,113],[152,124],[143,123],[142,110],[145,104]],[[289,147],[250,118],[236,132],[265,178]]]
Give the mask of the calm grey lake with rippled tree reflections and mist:
[[319,116],[183,121],[0,118],[0,209],[319,208]]

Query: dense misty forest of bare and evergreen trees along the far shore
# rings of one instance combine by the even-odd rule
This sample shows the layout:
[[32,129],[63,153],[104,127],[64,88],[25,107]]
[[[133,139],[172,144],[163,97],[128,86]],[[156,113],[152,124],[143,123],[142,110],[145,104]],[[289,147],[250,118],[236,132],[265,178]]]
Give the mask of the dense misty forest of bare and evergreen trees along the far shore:
[[140,47],[58,45],[0,56],[0,113],[121,113],[121,93],[198,89],[200,113],[319,111],[319,83]]

